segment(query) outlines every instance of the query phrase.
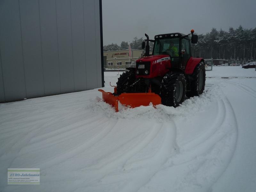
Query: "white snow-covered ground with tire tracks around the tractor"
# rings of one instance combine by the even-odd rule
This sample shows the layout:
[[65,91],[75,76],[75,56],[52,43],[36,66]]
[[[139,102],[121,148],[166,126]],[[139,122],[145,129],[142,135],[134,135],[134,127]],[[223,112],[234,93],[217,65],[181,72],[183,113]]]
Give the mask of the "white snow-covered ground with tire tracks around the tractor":
[[[0,191],[255,191],[256,71],[206,76],[177,108],[115,113],[97,89],[0,104]],[[7,168],[40,168],[40,185],[7,185]]]

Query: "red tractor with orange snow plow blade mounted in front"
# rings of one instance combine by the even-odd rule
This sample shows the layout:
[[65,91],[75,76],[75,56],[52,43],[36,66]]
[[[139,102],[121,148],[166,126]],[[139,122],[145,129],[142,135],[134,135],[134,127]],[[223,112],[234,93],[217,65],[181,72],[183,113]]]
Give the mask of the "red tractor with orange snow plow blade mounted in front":
[[[196,44],[198,36],[191,33],[170,33],[156,35],[155,40],[142,43],[146,52],[136,61],[136,68],[128,68],[116,83],[115,92],[104,92],[103,100],[115,106],[118,103],[128,107],[147,106],[162,103],[177,107],[185,96],[199,96],[204,91],[205,64],[203,58],[193,58],[191,43]],[[191,39],[189,38],[191,36]],[[149,41],[154,42],[152,55],[149,55]]]

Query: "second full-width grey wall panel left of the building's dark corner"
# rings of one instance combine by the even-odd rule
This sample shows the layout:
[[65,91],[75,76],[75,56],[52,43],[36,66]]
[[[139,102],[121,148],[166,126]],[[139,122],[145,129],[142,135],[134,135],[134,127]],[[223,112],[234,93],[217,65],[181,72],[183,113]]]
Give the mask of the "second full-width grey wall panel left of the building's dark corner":
[[84,4],[83,0],[71,0],[71,24],[75,91],[86,90]]

